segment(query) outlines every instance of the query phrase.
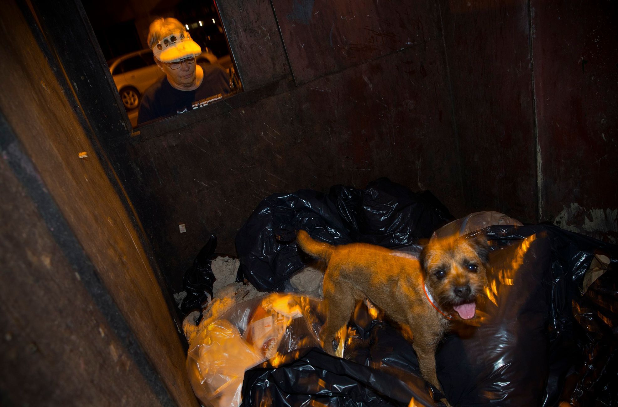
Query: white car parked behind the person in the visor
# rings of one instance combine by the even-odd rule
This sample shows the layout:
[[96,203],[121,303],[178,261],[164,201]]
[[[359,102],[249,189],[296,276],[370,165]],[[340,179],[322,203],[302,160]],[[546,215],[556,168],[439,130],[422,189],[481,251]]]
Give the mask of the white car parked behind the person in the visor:
[[[217,57],[206,49],[197,60],[216,63]],[[150,49],[125,54],[109,63],[109,72],[127,110],[136,109],[145,90],[165,75],[155,63]]]

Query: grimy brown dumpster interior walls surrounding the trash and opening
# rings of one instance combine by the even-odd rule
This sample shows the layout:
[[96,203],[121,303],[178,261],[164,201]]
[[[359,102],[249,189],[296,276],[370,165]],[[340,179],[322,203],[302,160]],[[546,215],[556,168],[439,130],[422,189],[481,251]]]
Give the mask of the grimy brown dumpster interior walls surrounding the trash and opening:
[[2,7],[8,405],[197,406],[172,294],[208,236],[234,255],[276,192],[386,176],[455,218],[496,210],[616,243],[613,2],[216,7],[242,92],[138,127],[86,4]]

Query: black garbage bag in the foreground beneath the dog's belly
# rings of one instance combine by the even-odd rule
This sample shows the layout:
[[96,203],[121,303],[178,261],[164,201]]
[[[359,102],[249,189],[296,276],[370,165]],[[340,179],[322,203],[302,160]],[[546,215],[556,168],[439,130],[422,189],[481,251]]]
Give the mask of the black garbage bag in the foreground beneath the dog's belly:
[[412,399],[415,406],[442,406],[420,377],[412,345],[372,317],[364,303],[355,309],[350,330],[343,358],[298,349],[249,369],[242,406],[408,406]]

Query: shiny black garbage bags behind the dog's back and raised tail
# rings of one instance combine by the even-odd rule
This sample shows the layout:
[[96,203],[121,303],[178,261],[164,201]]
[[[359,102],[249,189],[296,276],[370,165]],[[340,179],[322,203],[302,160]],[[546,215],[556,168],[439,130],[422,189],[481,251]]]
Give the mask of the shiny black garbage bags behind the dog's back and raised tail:
[[300,190],[275,194],[255,209],[236,236],[239,279],[261,291],[281,291],[305,266],[294,231],[331,244],[352,241],[394,247],[415,244],[452,220],[431,192],[412,192],[380,178],[363,189],[334,186],[328,194]]

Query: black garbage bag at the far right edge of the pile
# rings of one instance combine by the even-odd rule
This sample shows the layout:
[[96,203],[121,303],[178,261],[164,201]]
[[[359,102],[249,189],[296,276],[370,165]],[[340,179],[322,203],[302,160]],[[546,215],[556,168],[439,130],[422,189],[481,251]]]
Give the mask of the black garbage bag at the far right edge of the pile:
[[[504,244],[532,233],[547,233],[552,252],[543,406],[618,405],[618,246],[552,225],[489,228],[489,237]],[[595,280],[596,259],[607,271]]]

